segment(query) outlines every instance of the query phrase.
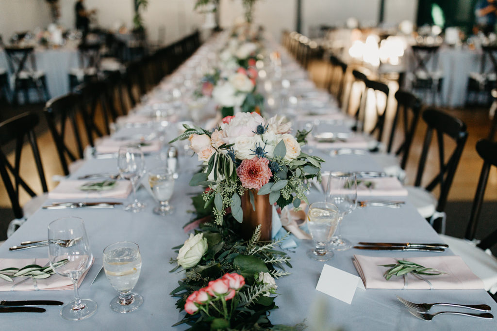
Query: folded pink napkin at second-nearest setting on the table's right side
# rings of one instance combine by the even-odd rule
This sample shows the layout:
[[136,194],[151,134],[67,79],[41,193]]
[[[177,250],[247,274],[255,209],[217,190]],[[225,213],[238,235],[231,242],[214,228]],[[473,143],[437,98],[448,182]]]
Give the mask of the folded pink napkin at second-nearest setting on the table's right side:
[[[323,174],[321,185],[325,192],[334,194],[336,192],[328,191],[328,177],[328,174]],[[364,182],[373,183],[373,188],[366,187]],[[407,189],[396,177],[357,178],[357,198],[367,197],[407,197]]]

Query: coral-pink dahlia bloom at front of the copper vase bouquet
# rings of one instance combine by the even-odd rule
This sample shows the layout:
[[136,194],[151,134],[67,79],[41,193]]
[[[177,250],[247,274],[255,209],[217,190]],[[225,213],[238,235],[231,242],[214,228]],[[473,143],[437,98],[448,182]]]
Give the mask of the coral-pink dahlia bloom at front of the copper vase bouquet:
[[269,160],[265,157],[254,157],[242,161],[237,168],[242,186],[246,189],[260,189],[273,176],[269,169]]

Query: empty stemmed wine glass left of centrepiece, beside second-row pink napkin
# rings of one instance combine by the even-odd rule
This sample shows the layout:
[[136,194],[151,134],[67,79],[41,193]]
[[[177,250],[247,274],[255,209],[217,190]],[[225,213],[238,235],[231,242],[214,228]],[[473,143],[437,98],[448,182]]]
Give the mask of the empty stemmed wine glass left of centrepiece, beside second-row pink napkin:
[[133,202],[124,207],[124,210],[131,212],[142,211],[145,204],[136,198],[136,189],[140,183],[140,178],[145,172],[145,159],[139,145],[121,146],[117,157],[117,169],[122,178],[131,182],[133,188]]

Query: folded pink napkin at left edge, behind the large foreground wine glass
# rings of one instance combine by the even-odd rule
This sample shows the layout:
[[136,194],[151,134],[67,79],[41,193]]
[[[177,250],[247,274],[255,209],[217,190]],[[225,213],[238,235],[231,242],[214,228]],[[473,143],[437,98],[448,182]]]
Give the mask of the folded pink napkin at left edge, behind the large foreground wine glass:
[[[94,259],[91,262],[93,265]],[[0,270],[9,267],[22,268],[26,265],[48,266],[48,259],[0,259]],[[90,268],[88,268],[89,270]],[[78,287],[83,282],[85,273],[78,280]],[[33,279],[28,277],[14,277],[13,282],[0,278],[0,291],[38,291],[38,290],[72,290],[73,282],[69,277],[54,273],[45,279]]]

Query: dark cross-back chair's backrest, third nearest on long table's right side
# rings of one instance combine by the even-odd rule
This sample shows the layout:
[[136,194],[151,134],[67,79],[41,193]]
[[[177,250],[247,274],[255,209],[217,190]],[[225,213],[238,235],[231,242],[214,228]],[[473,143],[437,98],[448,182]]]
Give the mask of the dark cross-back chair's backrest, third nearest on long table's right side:
[[416,130],[417,121],[419,120],[422,104],[421,100],[414,94],[402,90],[395,92],[395,99],[397,100],[397,111],[392,123],[392,130],[390,131],[387,152],[392,152],[397,123],[399,122],[399,117],[402,115],[404,140],[395,151],[395,155],[402,154],[401,168],[406,169],[409,150],[411,149],[411,144],[413,142],[414,132]]

